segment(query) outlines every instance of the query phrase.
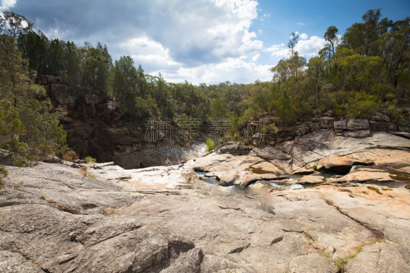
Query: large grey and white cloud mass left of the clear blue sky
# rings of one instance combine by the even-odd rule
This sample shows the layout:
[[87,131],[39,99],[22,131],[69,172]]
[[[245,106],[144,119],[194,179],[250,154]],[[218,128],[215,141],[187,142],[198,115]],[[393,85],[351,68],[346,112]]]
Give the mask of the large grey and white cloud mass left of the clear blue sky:
[[[19,0],[13,11],[50,38],[79,46],[100,41],[114,60],[129,55],[146,73],[161,72],[175,82],[270,80],[272,65],[262,61],[289,52],[285,44],[265,48],[258,38],[262,30],[251,30],[255,20],[270,16],[258,10],[256,0],[54,0],[52,5],[49,0]],[[319,43],[313,38],[301,34],[299,54],[310,54]]]

